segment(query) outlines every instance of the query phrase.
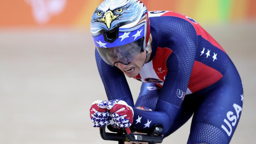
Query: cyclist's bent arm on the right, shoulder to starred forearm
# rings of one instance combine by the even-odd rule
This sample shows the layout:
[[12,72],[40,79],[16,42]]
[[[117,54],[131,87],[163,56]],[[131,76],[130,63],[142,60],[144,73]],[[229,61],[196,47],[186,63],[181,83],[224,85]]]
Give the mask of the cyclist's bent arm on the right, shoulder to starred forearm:
[[[182,97],[177,95],[177,90],[186,92],[196,55],[196,31],[189,22],[185,24],[186,26],[182,28],[174,28],[175,26],[173,26],[170,31],[171,40],[166,47],[173,52],[166,61],[168,72],[155,111],[135,109],[133,126],[136,128],[146,129],[145,126],[148,126],[151,121],[149,127],[161,124],[164,127],[164,134],[172,127],[174,117],[183,101]],[[140,119],[140,117],[142,118]],[[141,123],[138,122],[139,120]]]

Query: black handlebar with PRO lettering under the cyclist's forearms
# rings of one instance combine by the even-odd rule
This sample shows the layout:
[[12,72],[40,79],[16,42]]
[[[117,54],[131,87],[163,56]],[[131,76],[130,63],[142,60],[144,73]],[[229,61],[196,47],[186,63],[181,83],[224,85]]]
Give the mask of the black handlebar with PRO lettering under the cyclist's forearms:
[[111,125],[107,126],[111,132],[106,132],[106,126],[100,127],[100,136],[103,140],[113,140],[118,141],[118,144],[124,144],[124,141],[140,141],[140,142],[148,142],[148,144],[162,143],[163,137],[159,135],[163,128],[161,126],[155,126],[154,130],[147,134],[137,134],[132,132],[141,132],[135,128],[123,128],[123,129],[115,129]]

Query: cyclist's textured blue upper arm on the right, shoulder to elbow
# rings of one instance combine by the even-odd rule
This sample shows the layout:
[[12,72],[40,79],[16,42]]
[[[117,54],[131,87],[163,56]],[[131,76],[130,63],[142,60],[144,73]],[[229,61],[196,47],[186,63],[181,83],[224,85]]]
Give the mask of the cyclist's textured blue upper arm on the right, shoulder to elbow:
[[184,97],[180,93],[187,91],[189,78],[196,56],[197,35],[192,24],[186,29],[172,31],[172,42],[168,48],[173,51],[166,61],[168,73],[157,102],[156,110],[162,110],[164,103],[180,107]]

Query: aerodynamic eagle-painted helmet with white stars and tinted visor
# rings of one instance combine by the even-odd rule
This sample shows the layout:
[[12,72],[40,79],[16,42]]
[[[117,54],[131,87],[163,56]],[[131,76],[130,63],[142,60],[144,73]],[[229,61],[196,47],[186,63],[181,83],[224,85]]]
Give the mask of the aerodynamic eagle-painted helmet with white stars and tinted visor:
[[128,65],[140,52],[147,50],[148,10],[140,0],[105,0],[92,15],[91,33],[106,63]]

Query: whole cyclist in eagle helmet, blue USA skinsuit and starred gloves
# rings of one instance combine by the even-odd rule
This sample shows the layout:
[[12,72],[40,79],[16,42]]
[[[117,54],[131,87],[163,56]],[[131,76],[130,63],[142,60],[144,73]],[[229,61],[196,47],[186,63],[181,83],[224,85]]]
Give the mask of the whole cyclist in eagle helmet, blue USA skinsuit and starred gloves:
[[[140,0],[105,0],[93,13],[91,33],[108,97],[92,104],[94,127],[160,124],[167,137],[194,114],[188,143],[230,142],[241,116],[242,82],[195,20],[148,12]],[[124,74],[142,81],[135,105]]]

